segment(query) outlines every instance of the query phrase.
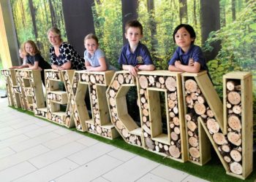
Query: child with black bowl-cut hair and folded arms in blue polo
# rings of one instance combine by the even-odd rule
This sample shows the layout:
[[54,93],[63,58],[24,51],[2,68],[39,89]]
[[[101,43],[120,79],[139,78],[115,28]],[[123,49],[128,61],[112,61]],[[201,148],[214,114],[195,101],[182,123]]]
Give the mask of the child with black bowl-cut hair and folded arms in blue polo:
[[169,71],[186,71],[198,73],[200,70],[208,71],[203,52],[195,41],[195,31],[187,24],[178,25],[173,32],[173,41],[178,45],[173,58],[169,61]]

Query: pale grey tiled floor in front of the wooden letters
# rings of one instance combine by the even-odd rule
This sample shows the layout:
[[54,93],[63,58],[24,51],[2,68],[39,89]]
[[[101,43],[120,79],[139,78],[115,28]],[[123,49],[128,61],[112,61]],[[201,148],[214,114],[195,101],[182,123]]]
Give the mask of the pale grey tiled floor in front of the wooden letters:
[[204,181],[7,105],[1,98],[1,182]]

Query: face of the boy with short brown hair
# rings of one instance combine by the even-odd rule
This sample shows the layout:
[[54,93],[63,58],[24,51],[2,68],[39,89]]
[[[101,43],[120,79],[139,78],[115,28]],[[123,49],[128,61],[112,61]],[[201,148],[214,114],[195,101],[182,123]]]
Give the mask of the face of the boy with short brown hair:
[[140,33],[140,28],[129,27],[127,29],[127,33],[125,33],[125,37],[128,39],[130,47],[133,47],[139,44],[139,41],[143,35]]

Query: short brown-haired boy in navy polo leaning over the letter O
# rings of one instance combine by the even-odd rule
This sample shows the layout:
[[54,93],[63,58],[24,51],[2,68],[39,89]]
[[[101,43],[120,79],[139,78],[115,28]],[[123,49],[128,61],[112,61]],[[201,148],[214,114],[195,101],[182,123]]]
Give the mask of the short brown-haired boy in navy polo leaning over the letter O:
[[125,37],[129,43],[121,49],[118,63],[132,76],[138,76],[139,70],[153,71],[154,65],[146,45],[140,43],[143,27],[138,20],[131,20],[125,25]]

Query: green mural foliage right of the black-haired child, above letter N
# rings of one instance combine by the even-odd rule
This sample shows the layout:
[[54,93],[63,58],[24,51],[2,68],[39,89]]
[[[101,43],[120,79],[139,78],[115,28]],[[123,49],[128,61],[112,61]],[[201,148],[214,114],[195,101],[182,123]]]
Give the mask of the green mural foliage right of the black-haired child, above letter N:
[[[222,50],[216,60],[208,62],[214,86],[222,95],[222,76],[230,71],[251,71],[256,84],[256,1],[248,1],[233,23],[227,23],[219,31],[211,32],[205,50],[211,50],[211,42],[221,40]],[[256,141],[256,88],[254,87],[254,132]]]

